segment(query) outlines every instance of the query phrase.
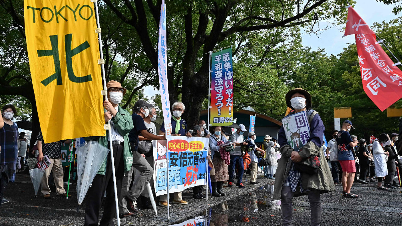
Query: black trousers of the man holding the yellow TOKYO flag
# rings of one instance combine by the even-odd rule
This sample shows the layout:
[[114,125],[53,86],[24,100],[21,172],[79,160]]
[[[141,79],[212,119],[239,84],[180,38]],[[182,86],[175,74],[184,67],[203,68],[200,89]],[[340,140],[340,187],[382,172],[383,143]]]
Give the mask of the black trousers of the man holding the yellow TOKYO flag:
[[[113,157],[115,158],[115,173],[117,197],[120,196],[121,183],[124,176],[123,145],[113,144]],[[100,226],[114,226],[113,218],[116,216],[115,190],[113,186],[112,166],[110,152],[107,156],[106,175],[97,174],[92,186],[86,193],[85,226],[97,226],[99,210],[102,205],[103,194],[106,191],[105,206],[103,208]]]

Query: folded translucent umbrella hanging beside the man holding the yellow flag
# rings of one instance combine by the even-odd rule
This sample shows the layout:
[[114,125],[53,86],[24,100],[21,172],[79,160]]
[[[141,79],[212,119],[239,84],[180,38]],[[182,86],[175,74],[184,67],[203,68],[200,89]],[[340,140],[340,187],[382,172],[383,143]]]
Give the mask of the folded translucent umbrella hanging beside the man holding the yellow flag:
[[77,212],[109,151],[96,141],[87,142],[84,146],[77,148]]

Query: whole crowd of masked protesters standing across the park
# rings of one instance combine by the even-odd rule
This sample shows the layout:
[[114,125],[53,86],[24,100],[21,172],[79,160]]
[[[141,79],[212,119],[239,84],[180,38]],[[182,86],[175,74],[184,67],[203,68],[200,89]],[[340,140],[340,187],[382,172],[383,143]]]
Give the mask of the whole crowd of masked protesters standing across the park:
[[[100,145],[110,148],[113,152],[103,160],[102,166],[92,181],[92,186],[86,194],[86,210],[84,225],[98,225],[99,211],[104,205],[100,225],[113,225],[116,215],[114,186],[111,167],[111,154],[114,157],[117,197],[119,197],[119,214],[129,217],[139,212],[141,208],[152,208],[150,199],[142,196],[148,183],[153,190],[153,154],[146,149],[151,140],[166,140],[164,123],[156,131],[153,123],[156,119],[156,109],[150,103],[139,100],[133,107],[133,114],[120,107],[126,89],[119,82],[107,83],[108,100],[104,101],[105,122],[110,121],[110,135],[87,137],[86,141],[94,140]],[[402,153],[398,153],[398,134],[388,136],[383,133],[367,144],[366,140],[358,140],[350,135],[353,124],[345,120],[340,131],[332,131],[332,139],[323,149],[324,125],[320,115],[311,109],[312,98],[308,91],[297,88],[290,90],[285,97],[287,106],[292,109],[290,114],[306,111],[310,125],[310,137],[303,148],[293,149],[289,145],[284,128],[281,127],[278,139],[265,135],[261,145],[256,144],[257,134],[249,131],[244,135],[246,127],[239,124],[233,134],[225,134],[222,127],[212,127],[207,130],[205,121],[199,120],[194,128],[189,128],[181,116],[185,105],[175,102],[172,105],[172,136],[203,137],[209,139],[207,160],[213,170],[210,172],[212,195],[224,196],[223,184],[228,187],[246,187],[243,182],[245,172],[250,173],[250,184],[257,185],[257,173],[261,171],[267,179],[275,180],[274,199],[282,200],[283,225],[292,224],[292,198],[308,195],[311,208],[311,225],[320,225],[321,201],[320,194],[335,190],[335,185],[342,183],[343,197],[358,198],[351,190],[354,182],[369,183],[377,181],[379,190],[392,189],[398,186],[394,180],[396,167],[402,167]],[[27,150],[25,134],[18,134],[18,125],[12,121],[16,115],[13,105],[5,105],[0,117],[0,200],[1,204],[9,201],[3,197],[8,183],[14,182],[18,169],[26,165]],[[111,142],[109,139],[112,139]],[[41,181],[43,198],[51,198],[49,176],[53,174],[57,197],[68,197],[64,189],[64,169],[61,163],[61,146],[70,144],[71,140],[61,140],[44,143],[41,131],[36,137],[37,160],[42,161],[47,156],[51,166],[45,170]],[[228,145],[228,141],[230,141]],[[400,149],[400,148],[399,148]],[[34,152],[33,152],[34,153]],[[317,156],[320,167],[306,173],[298,168],[298,163],[309,157]],[[17,166],[18,165],[18,166]],[[261,167],[262,166],[262,167]],[[247,171],[246,171],[247,170]],[[402,173],[400,171],[399,173]],[[135,181],[135,183],[133,182]],[[233,183],[236,184],[234,185]],[[383,185],[384,182],[384,185]],[[155,191],[153,195],[155,197]],[[193,198],[204,199],[203,186],[193,187]],[[106,196],[105,196],[106,194]],[[173,193],[172,203],[186,205],[182,192]],[[155,197],[156,198],[156,197]],[[158,197],[158,205],[167,207],[167,195]],[[141,205],[138,204],[140,201]]]

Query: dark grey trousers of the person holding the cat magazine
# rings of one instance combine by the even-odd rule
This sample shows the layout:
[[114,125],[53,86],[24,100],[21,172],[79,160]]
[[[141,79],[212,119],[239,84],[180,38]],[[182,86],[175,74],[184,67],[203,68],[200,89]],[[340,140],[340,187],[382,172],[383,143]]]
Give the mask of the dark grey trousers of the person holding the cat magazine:
[[[321,201],[320,191],[312,190],[307,192],[308,201],[310,202],[310,226],[320,226],[321,222]],[[282,225],[292,225],[293,205],[292,205],[293,191],[289,186],[282,187]]]

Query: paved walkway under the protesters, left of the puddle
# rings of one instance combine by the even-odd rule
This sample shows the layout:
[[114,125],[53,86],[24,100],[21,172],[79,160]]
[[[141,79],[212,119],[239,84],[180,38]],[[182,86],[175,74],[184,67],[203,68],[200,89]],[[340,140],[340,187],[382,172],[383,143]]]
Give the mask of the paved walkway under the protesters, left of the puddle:
[[[250,175],[247,175],[249,178]],[[8,185],[5,197],[10,203],[0,205],[0,225],[1,226],[78,226],[84,223],[85,203],[83,201],[80,212],[77,213],[77,194],[76,185],[70,186],[69,199],[56,198],[52,193],[51,199],[43,199],[38,193],[35,198],[33,185],[29,175],[16,175],[16,182]],[[205,199],[193,199],[192,189],[183,191],[183,199],[188,201],[188,205],[171,204],[170,219],[167,219],[167,208],[158,206],[158,216],[153,210],[142,210],[139,214],[129,218],[121,218],[121,225],[169,225],[199,214],[202,210],[210,208],[223,201],[233,199],[236,196],[248,193],[252,189],[262,185],[273,183],[273,180],[258,177],[260,185],[250,185],[244,182],[246,188],[226,187],[224,185],[225,196],[208,197]],[[65,186],[65,189],[67,187]],[[205,186],[204,186],[205,191]],[[100,213],[100,216],[102,213]],[[116,224],[117,225],[117,224]]]

